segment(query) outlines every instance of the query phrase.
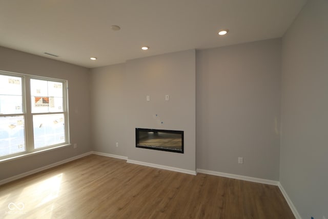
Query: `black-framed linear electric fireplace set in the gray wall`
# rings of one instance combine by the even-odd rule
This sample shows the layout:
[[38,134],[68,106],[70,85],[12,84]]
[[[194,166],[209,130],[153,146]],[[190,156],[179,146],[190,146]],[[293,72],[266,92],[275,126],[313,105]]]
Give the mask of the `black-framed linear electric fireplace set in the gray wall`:
[[135,146],[183,153],[183,131],[136,128]]

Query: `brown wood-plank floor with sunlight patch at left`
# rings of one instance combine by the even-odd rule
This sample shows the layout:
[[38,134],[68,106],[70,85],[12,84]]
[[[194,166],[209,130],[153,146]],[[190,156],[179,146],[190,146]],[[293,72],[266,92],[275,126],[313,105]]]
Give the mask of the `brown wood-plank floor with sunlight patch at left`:
[[89,155],[0,186],[0,218],[295,217],[276,186]]

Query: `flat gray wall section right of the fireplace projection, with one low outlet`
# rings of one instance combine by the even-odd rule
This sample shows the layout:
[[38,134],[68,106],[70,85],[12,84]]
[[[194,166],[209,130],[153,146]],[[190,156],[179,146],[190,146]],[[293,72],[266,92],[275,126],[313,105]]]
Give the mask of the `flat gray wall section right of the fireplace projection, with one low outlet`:
[[279,180],[280,64],[280,39],[197,51],[197,168]]

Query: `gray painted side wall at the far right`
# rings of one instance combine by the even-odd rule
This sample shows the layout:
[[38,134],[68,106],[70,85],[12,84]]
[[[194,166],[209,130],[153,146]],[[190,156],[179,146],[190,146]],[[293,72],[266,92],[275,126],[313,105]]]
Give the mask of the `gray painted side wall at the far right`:
[[302,218],[328,218],[328,1],[308,1],[282,40],[280,183]]

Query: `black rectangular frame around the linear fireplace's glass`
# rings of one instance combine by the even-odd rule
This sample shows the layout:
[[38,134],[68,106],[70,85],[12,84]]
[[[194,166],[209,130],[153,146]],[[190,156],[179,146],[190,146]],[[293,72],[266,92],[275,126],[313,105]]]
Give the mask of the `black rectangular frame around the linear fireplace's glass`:
[[[139,131],[145,131],[145,132],[165,132],[165,133],[173,133],[173,134],[181,134],[181,150],[177,149],[170,149],[170,148],[161,148],[161,147],[152,147],[152,146],[144,146],[144,145],[138,145],[139,143]],[[175,152],[175,153],[184,153],[183,149],[183,131],[178,130],[164,130],[164,129],[145,129],[145,128],[135,128],[135,147],[137,148],[146,148],[146,149],[152,149],[152,150],[160,150],[160,151],[169,151],[169,152]]]

